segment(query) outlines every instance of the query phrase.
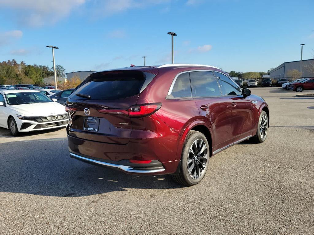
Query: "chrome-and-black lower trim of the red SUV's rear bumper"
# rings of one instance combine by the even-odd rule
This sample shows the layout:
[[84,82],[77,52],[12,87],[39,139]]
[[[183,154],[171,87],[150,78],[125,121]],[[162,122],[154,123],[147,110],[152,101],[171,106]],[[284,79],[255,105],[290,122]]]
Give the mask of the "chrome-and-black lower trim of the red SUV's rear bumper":
[[124,161],[122,160],[119,162],[105,161],[105,160],[100,160],[100,159],[96,160],[96,159],[91,159],[90,157],[84,157],[84,156],[73,154],[73,153],[70,153],[70,157],[93,164],[93,165],[106,166],[109,168],[122,170],[129,174],[136,174],[136,175],[160,174],[163,171],[165,171],[164,166],[158,160],[154,160],[149,164],[131,164],[127,162],[126,160]]

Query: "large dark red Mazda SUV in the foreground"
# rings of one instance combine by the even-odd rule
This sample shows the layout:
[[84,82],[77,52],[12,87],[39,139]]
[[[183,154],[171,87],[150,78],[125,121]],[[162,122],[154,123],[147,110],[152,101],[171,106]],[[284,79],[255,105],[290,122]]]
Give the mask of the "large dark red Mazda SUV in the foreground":
[[91,74],[69,96],[70,156],[130,174],[200,182],[209,158],[267,136],[267,103],[207,65],[129,67]]

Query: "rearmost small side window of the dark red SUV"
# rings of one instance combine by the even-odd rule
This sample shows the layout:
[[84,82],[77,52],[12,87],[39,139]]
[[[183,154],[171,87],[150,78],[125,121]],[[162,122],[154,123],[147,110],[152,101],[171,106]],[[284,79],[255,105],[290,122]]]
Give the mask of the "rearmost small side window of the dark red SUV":
[[169,98],[192,97],[189,73],[180,74],[175,81]]

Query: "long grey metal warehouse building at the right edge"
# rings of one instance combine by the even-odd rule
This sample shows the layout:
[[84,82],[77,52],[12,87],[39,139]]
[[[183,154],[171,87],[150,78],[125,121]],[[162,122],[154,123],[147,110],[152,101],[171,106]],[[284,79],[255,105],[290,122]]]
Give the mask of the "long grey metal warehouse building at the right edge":
[[[314,66],[314,59],[311,60],[302,60],[302,67],[303,67],[303,74],[302,77],[314,77],[314,74],[311,74],[307,67],[308,66]],[[269,77],[271,78],[288,78],[288,71],[290,70],[299,70],[300,71],[300,60],[297,61],[291,61],[291,62],[284,62],[281,65],[279,65],[277,68],[273,69],[269,73]]]

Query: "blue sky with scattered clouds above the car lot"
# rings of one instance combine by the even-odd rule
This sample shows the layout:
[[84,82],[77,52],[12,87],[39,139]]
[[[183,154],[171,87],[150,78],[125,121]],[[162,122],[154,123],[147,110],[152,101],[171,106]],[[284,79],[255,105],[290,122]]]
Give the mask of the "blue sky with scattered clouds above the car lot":
[[267,71],[313,58],[314,1],[1,0],[0,61],[56,63],[66,72],[171,63]]

